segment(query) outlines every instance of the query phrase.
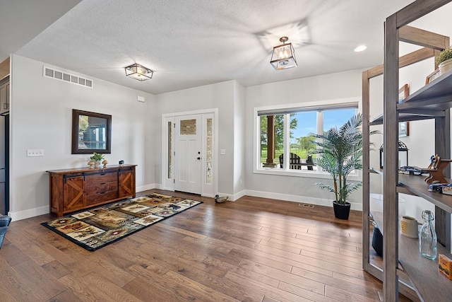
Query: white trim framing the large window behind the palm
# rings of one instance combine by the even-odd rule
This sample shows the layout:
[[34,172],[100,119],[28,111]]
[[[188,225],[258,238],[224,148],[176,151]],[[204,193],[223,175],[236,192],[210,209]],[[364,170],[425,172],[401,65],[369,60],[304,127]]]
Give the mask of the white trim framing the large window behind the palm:
[[[270,105],[263,107],[255,107],[253,109],[253,133],[254,133],[254,146],[253,146],[253,173],[256,174],[267,174],[267,175],[284,175],[284,176],[296,176],[302,178],[331,178],[331,175],[327,172],[316,171],[316,170],[278,170],[273,168],[263,168],[261,167],[261,158],[258,155],[260,151],[261,144],[261,125],[258,123],[258,112],[262,111],[270,111],[270,110],[284,110],[287,108],[312,108],[312,110],[316,110],[319,107],[342,107],[345,105],[355,105],[358,108],[358,112],[362,112],[362,100],[361,98],[340,98],[334,100],[321,100],[315,102],[307,102],[307,103],[293,103],[293,104],[283,104],[283,105]],[[317,132],[323,131],[323,115],[317,115]],[[285,119],[285,129],[289,129],[288,127],[290,121]],[[289,133],[284,132],[284,146],[285,149],[289,149],[289,144],[287,144],[287,140],[289,139]],[[285,150],[285,153],[288,154],[290,150]],[[362,171],[358,170],[357,173],[350,174],[347,180],[359,181],[362,180]]]

